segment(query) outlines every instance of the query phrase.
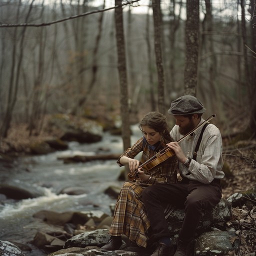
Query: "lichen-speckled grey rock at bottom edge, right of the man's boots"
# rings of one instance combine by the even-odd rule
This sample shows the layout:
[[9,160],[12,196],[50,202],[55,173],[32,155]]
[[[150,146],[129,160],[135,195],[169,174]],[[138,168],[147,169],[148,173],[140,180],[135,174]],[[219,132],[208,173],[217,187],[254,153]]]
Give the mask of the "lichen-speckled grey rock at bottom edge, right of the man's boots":
[[[195,255],[199,256],[224,256],[229,251],[238,248],[235,232],[211,231],[201,234],[194,246]],[[234,242],[232,243],[232,241]]]

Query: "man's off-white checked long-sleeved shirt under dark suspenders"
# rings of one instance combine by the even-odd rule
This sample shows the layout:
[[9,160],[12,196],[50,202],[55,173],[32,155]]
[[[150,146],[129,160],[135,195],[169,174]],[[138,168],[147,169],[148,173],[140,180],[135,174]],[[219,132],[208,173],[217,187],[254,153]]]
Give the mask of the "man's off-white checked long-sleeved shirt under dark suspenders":
[[[199,124],[204,122],[201,118]],[[203,126],[203,125],[202,125]],[[196,142],[199,138],[202,126],[195,130],[192,135],[179,142],[181,149],[186,157],[193,158],[193,152]],[[170,131],[170,135],[174,141],[179,140],[183,135],[178,131],[179,126],[175,125]],[[222,159],[222,139],[219,129],[212,123],[205,128],[200,146],[197,151],[196,160],[191,159],[189,167],[179,162],[179,173],[181,176],[191,180],[198,180],[208,184],[214,178],[223,178],[224,172],[221,170],[223,166]],[[187,173],[189,175],[185,175]]]

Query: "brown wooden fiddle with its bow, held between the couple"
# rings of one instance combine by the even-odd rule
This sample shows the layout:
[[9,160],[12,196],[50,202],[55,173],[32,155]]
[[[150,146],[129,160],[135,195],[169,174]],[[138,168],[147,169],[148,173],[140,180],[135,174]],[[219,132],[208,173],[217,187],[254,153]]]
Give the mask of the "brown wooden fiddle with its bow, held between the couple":
[[[206,123],[207,121],[209,121],[210,119],[212,119],[213,117],[215,117],[215,114],[212,114],[210,117],[208,117],[204,122],[202,122],[201,124],[197,125],[195,128],[193,128],[191,131],[189,131],[187,134],[185,134],[182,138],[180,138],[179,140],[177,140],[177,143],[180,142],[181,140],[183,140],[184,138],[186,138],[188,135],[190,135],[192,132],[194,132],[195,130],[197,130],[200,126],[202,126],[204,123]],[[146,160],[145,162],[143,162],[142,164],[140,164],[138,166],[138,168],[143,167],[143,169],[145,170],[150,170],[156,166],[158,166],[159,164],[163,163],[165,160],[167,160],[168,158],[172,157],[174,155],[174,151],[172,149],[170,149],[168,146],[164,147],[162,150],[160,150],[159,152],[157,152],[155,155],[153,155],[152,157],[150,157],[148,160]],[[129,172],[127,174],[128,179],[130,181],[132,181],[133,179],[135,179],[136,177],[138,177],[138,171],[135,170],[134,172]]]

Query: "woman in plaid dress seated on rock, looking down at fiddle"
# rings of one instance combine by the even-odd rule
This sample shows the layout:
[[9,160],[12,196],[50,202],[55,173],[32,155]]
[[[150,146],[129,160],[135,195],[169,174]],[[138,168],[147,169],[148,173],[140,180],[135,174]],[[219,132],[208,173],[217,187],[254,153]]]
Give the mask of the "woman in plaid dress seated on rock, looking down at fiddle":
[[[177,182],[176,156],[170,157],[160,166],[150,170],[138,168],[141,163],[166,147],[166,143],[172,141],[167,129],[166,117],[159,112],[149,112],[142,118],[138,127],[143,132],[143,136],[117,160],[119,166],[127,164],[131,172],[137,170],[138,179],[124,182],[122,185],[109,230],[110,240],[101,247],[103,251],[119,249],[122,244],[122,234],[129,240],[135,241],[138,246],[146,247],[150,223],[141,201],[142,190],[152,184]],[[141,151],[140,163],[134,157]]]

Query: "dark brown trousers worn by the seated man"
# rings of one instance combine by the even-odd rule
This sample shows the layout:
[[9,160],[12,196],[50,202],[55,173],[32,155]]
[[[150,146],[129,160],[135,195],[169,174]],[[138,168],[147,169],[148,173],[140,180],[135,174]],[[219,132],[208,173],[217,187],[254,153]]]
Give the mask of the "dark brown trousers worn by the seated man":
[[169,236],[163,203],[184,206],[179,239],[188,242],[193,238],[202,210],[210,209],[219,202],[221,187],[218,179],[210,184],[191,180],[187,183],[154,184],[143,189],[142,198],[155,239]]

